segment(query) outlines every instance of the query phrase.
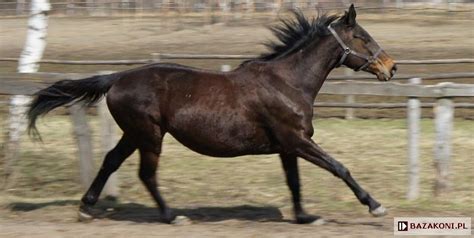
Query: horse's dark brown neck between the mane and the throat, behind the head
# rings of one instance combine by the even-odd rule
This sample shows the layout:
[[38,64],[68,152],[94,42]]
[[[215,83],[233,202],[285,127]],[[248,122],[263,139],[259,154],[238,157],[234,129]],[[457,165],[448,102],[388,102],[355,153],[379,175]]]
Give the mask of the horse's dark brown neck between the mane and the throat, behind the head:
[[341,54],[340,46],[331,39],[325,39],[313,47],[309,46],[281,63],[287,65],[291,76],[287,82],[303,91],[311,101],[316,98],[324,81],[334,69]]

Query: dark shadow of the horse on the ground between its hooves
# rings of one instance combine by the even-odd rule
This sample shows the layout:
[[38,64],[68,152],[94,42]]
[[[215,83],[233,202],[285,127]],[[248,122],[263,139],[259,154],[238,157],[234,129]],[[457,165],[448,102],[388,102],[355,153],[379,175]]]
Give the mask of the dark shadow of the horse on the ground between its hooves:
[[[79,205],[77,200],[57,200],[43,203],[15,202],[9,204],[9,209],[15,212],[29,212],[49,206]],[[96,217],[116,221],[132,221],[139,223],[159,222],[160,215],[156,207],[137,203],[99,202]],[[177,216],[186,216],[197,222],[219,222],[226,220],[247,220],[260,222],[289,222],[284,220],[281,211],[271,206],[231,206],[231,207],[192,207],[174,208]]]

